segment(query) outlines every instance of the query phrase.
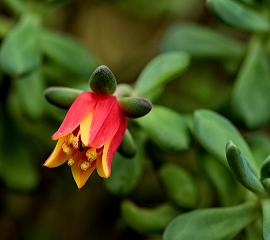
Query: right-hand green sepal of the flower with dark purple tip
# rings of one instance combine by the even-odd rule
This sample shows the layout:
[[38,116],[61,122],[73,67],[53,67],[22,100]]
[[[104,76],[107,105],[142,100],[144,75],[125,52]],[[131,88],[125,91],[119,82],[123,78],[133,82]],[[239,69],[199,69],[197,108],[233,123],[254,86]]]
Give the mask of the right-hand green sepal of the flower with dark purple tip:
[[145,98],[119,98],[118,102],[128,118],[140,118],[150,112],[153,105]]

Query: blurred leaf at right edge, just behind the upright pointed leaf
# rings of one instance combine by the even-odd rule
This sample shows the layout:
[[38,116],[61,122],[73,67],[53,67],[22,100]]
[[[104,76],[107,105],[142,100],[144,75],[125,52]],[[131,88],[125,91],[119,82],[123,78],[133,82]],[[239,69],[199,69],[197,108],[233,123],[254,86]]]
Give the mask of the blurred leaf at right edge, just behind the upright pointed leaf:
[[270,155],[270,137],[265,132],[256,132],[245,135],[258,166]]

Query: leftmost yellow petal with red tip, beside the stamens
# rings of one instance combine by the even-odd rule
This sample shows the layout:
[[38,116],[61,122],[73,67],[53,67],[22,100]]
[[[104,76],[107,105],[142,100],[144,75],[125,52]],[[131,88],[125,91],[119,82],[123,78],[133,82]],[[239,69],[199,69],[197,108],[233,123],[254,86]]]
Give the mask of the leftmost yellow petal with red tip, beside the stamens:
[[58,167],[62,165],[69,156],[67,156],[62,149],[62,145],[65,142],[66,137],[62,137],[58,140],[52,154],[49,156],[49,158],[46,160],[46,162],[43,164],[45,167]]

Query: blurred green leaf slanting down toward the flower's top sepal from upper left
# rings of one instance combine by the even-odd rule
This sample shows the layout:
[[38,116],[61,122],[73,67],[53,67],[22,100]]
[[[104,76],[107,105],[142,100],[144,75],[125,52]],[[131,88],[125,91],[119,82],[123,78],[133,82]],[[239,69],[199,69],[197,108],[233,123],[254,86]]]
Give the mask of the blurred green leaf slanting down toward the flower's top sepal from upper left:
[[95,62],[88,49],[76,38],[43,30],[41,44],[44,54],[72,75],[90,77]]

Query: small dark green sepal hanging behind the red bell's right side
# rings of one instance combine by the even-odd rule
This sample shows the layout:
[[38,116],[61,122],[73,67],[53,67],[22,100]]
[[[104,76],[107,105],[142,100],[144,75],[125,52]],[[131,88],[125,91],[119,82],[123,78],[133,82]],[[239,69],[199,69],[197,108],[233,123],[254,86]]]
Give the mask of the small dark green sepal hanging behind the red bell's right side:
[[132,158],[135,156],[137,152],[137,146],[134,142],[134,139],[128,130],[128,128],[125,131],[125,135],[122,139],[122,142],[120,146],[117,149],[118,152],[120,152],[124,157]]

